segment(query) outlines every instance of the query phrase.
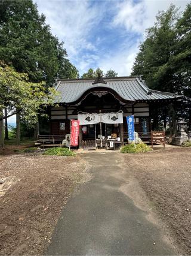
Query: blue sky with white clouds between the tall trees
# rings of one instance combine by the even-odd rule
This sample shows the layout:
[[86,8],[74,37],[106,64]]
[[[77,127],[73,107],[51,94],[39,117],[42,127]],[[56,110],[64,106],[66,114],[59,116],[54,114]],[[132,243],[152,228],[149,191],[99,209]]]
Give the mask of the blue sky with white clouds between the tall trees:
[[[110,68],[129,76],[145,29],[153,26],[159,10],[171,3],[183,11],[189,1],[63,1],[34,0],[47,17],[53,35],[64,41],[68,58],[80,75],[89,68]],[[48,54],[48,53],[47,53]],[[11,117],[9,122],[14,122]]]

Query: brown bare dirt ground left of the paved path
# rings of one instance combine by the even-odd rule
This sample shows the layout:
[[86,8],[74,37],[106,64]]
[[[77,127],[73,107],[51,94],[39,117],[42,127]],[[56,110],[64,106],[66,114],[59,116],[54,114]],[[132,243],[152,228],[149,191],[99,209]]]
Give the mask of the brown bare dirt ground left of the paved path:
[[0,255],[43,254],[69,195],[89,179],[78,156],[0,156]]

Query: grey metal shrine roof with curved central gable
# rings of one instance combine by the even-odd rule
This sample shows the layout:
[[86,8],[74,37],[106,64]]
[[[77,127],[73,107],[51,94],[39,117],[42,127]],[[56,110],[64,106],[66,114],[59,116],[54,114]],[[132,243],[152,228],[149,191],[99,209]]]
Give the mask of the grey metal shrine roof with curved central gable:
[[[93,85],[95,79],[64,79],[58,80],[55,89],[60,92],[55,103],[75,103],[85,92],[98,91],[104,88],[105,91],[114,91],[124,101],[136,100],[168,100],[180,98],[181,95],[170,92],[154,91],[147,87],[146,83],[139,77],[113,77],[104,78],[107,83]],[[101,89],[103,91],[103,89]]]

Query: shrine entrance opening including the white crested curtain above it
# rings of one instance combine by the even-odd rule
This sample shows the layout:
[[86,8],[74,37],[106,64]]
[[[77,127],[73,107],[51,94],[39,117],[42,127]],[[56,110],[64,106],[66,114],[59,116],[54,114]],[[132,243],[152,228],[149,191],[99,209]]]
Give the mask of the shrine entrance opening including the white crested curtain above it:
[[[123,116],[117,113],[79,113],[81,124],[82,147],[92,149],[116,149],[122,145],[120,127],[123,126]],[[91,124],[88,124],[91,122]],[[93,124],[94,123],[94,124]]]

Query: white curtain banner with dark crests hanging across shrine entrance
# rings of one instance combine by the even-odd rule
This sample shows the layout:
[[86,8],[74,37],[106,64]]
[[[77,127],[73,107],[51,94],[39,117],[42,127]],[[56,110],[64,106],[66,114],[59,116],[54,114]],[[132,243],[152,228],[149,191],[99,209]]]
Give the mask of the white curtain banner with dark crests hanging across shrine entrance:
[[78,113],[78,121],[80,125],[94,125],[100,122],[104,124],[122,124],[123,112],[112,113]]

